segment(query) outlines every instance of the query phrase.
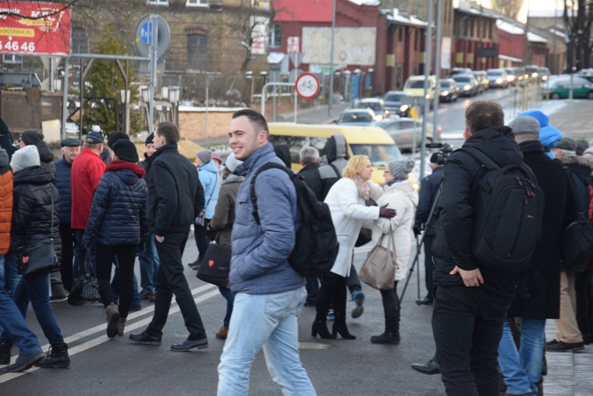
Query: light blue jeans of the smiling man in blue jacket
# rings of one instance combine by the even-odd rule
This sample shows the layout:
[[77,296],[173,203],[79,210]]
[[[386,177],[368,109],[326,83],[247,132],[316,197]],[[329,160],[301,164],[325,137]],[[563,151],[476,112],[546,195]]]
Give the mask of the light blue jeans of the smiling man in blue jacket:
[[235,294],[219,364],[219,396],[247,395],[251,365],[262,347],[283,395],[316,395],[299,357],[297,316],[306,296],[304,286],[276,294]]

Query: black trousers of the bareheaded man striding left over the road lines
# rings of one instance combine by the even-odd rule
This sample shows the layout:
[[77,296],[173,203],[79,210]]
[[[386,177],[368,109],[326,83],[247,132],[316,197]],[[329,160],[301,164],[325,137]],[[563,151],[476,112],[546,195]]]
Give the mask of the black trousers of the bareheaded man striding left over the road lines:
[[165,232],[164,241],[157,241],[157,252],[161,260],[159,277],[157,283],[157,301],[155,301],[155,315],[152,322],[146,328],[146,333],[155,337],[161,337],[163,328],[167,322],[169,308],[173,294],[181,310],[185,326],[189,331],[190,340],[206,338],[204,324],[193,301],[191,290],[187,285],[187,279],[183,274],[181,256],[187,241],[188,234],[185,232]]

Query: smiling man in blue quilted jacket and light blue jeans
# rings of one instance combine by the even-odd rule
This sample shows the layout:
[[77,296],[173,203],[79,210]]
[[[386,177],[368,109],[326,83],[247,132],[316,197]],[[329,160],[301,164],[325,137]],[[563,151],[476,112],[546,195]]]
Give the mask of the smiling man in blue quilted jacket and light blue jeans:
[[232,115],[229,145],[235,158],[244,161],[234,174],[245,180],[237,192],[231,235],[229,280],[235,303],[219,365],[219,396],[247,395],[251,363],[262,348],[283,393],[315,395],[298,349],[305,278],[288,264],[301,220],[297,192],[285,171],[269,169],[255,183],[255,195],[265,203],[258,207],[260,224],[249,199],[253,174],[268,162],[283,164],[268,136],[267,122],[257,111]]

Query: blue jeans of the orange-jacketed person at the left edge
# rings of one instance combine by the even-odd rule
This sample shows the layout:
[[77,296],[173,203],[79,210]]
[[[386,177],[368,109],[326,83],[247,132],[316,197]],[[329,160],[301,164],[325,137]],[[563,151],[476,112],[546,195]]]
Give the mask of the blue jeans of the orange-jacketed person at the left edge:
[[[3,287],[6,282],[6,271],[4,270],[4,255],[0,255],[0,333],[4,340],[9,339],[17,347],[19,347],[19,354],[29,355],[41,351],[41,346],[37,336],[29,326],[27,326],[25,319],[19,308],[17,308],[15,301],[10,298],[10,294]],[[3,331],[3,329],[5,329]]]

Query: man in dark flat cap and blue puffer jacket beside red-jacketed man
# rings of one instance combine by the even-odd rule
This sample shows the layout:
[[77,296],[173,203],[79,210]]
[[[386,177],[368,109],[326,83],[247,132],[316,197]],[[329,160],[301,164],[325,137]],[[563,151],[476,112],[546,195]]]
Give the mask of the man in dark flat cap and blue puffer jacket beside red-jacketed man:
[[74,230],[72,230],[72,191],[70,172],[72,161],[80,153],[81,143],[77,138],[65,138],[61,142],[62,159],[56,161],[56,189],[60,193],[60,238],[62,239],[62,257],[60,274],[65,290],[72,289],[72,260],[74,260]]

